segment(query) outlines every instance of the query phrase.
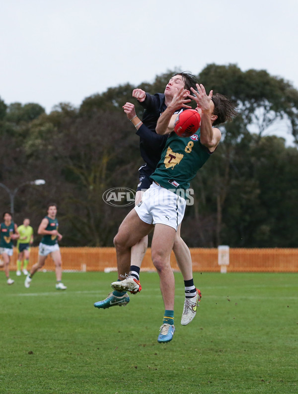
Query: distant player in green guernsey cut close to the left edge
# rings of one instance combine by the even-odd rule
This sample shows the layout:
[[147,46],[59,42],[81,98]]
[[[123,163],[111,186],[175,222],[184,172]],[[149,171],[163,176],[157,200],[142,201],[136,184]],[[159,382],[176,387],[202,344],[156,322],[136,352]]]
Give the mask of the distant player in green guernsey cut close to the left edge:
[[10,212],[4,212],[2,217],[3,223],[0,224],[0,255],[4,264],[7,284],[13,284],[14,280],[9,277],[9,262],[10,257],[13,255],[12,240],[18,239],[19,233],[17,225],[12,221]]

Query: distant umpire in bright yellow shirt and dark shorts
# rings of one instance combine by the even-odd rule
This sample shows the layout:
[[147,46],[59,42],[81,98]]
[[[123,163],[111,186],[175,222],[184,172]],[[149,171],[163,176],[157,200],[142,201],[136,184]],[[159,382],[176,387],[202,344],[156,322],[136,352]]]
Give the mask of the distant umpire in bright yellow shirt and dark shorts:
[[18,226],[20,238],[17,241],[16,248],[18,257],[16,262],[16,275],[21,275],[21,266],[23,261],[23,274],[28,275],[27,266],[30,257],[30,245],[33,244],[33,228],[30,226],[30,219],[25,218],[23,224]]

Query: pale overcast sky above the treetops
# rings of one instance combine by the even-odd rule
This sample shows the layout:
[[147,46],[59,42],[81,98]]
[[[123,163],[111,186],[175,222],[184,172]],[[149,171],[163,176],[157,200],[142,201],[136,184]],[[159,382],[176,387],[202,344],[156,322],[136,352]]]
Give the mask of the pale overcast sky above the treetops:
[[266,69],[298,88],[297,15],[297,0],[1,1],[0,97],[49,113],[210,63]]

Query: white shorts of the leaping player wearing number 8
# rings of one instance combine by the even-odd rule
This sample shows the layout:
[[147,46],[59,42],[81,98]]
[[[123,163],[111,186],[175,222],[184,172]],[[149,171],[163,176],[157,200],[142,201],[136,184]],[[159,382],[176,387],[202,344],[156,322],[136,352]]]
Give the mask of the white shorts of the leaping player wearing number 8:
[[186,201],[183,197],[153,182],[135,209],[143,222],[165,224],[177,231],[184,216],[185,206]]

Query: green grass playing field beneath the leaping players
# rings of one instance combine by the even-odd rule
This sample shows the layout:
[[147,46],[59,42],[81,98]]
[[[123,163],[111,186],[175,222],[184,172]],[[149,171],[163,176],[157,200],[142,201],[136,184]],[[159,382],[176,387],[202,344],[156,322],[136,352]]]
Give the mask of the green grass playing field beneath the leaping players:
[[298,274],[195,273],[197,316],[181,326],[175,274],[174,338],[159,344],[158,275],[126,307],[98,310],[115,273],[53,272],[0,284],[0,393],[298,393]]

